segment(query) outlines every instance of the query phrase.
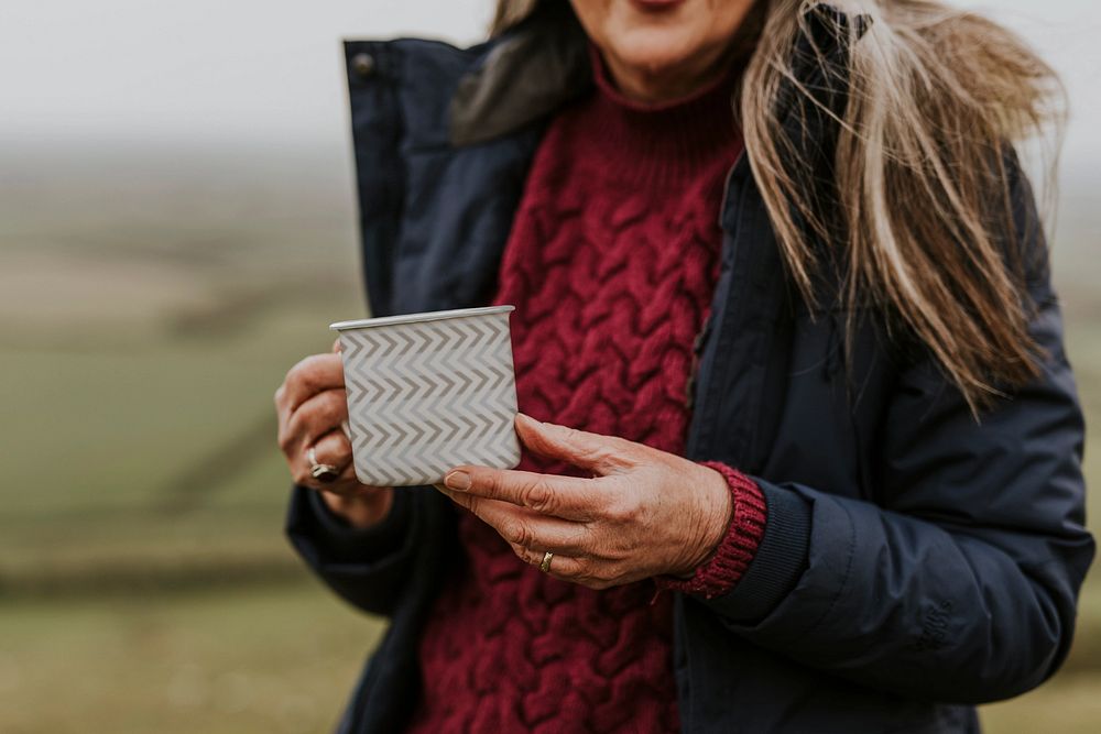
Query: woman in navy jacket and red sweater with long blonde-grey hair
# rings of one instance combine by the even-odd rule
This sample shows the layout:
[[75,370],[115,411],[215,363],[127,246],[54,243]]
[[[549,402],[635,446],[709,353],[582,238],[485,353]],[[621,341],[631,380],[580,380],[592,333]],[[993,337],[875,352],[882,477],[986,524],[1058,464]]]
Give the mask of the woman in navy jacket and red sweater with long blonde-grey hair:
[[339,358],[287,374],[291,538],[392,620],[341,731],[970,732],[1059,667],[1093,541],[1020,41],[543,0],[348,61],[371,311],[514,304],[526,450],[363,486]]

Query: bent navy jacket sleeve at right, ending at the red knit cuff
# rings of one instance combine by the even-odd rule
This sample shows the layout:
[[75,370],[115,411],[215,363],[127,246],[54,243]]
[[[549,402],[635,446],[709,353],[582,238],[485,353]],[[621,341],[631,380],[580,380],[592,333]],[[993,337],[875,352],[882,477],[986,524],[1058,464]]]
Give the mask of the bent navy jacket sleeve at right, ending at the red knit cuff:
[[[1014,189],[1018,234],[1043,252],[1027,182]],[[1035,260],[1042,375],[977,421],[931,361],[906,369],[885,406],[874,502],[753,478],[761,545],[730,593],[698,603],[755,644],[911,698],[992,701],[1058,668],[1094,545],[1081,409]]]

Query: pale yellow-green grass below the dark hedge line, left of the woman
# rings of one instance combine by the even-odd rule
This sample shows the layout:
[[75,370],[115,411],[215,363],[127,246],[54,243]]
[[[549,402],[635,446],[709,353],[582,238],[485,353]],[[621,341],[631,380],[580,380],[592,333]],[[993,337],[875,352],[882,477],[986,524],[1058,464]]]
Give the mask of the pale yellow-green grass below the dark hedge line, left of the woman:
[[381,629],[301,578],[0,604],[0,731],[331,731]]

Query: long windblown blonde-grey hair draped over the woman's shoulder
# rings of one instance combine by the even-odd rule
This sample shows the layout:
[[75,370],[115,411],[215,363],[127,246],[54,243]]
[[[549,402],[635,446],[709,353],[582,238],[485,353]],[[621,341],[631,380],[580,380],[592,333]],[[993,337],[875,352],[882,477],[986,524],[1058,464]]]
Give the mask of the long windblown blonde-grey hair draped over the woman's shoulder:
[[[843,263],[850,331],[858,306],[875,304],[925,344],[978,414],[1038,372],[1006,154],[1038,134],[1057,140],[1055,73],[1006,29],[934,0],[833,3],[844,15],[819,12],[815,0],[757,2],[764,22],[738,111],[792,278],[815,305],[821,255]],[[500,0],[497,30],[536,4]],[[814,43],[811,13],[841,36],[843,58],[827,59]],[[811,63],[838,75],[821,81],[840,83],[842,109],[802,86],[795,69],[807,59],[797,55],[808,47]],[[782,125],[792,90],[792,109],[828,116],[838,130],[825,200],[807,186],[798,141]],[[825,253],[808,241],[816,238]]]

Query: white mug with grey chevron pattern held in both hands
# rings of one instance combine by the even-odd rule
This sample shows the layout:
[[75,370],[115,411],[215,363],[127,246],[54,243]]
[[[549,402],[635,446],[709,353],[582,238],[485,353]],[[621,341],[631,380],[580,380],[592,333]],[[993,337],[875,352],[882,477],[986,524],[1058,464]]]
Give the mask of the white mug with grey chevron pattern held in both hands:
[[520,463],[511,306],[334,325],[340,332],[356,475],[444,481],[448,469]]

